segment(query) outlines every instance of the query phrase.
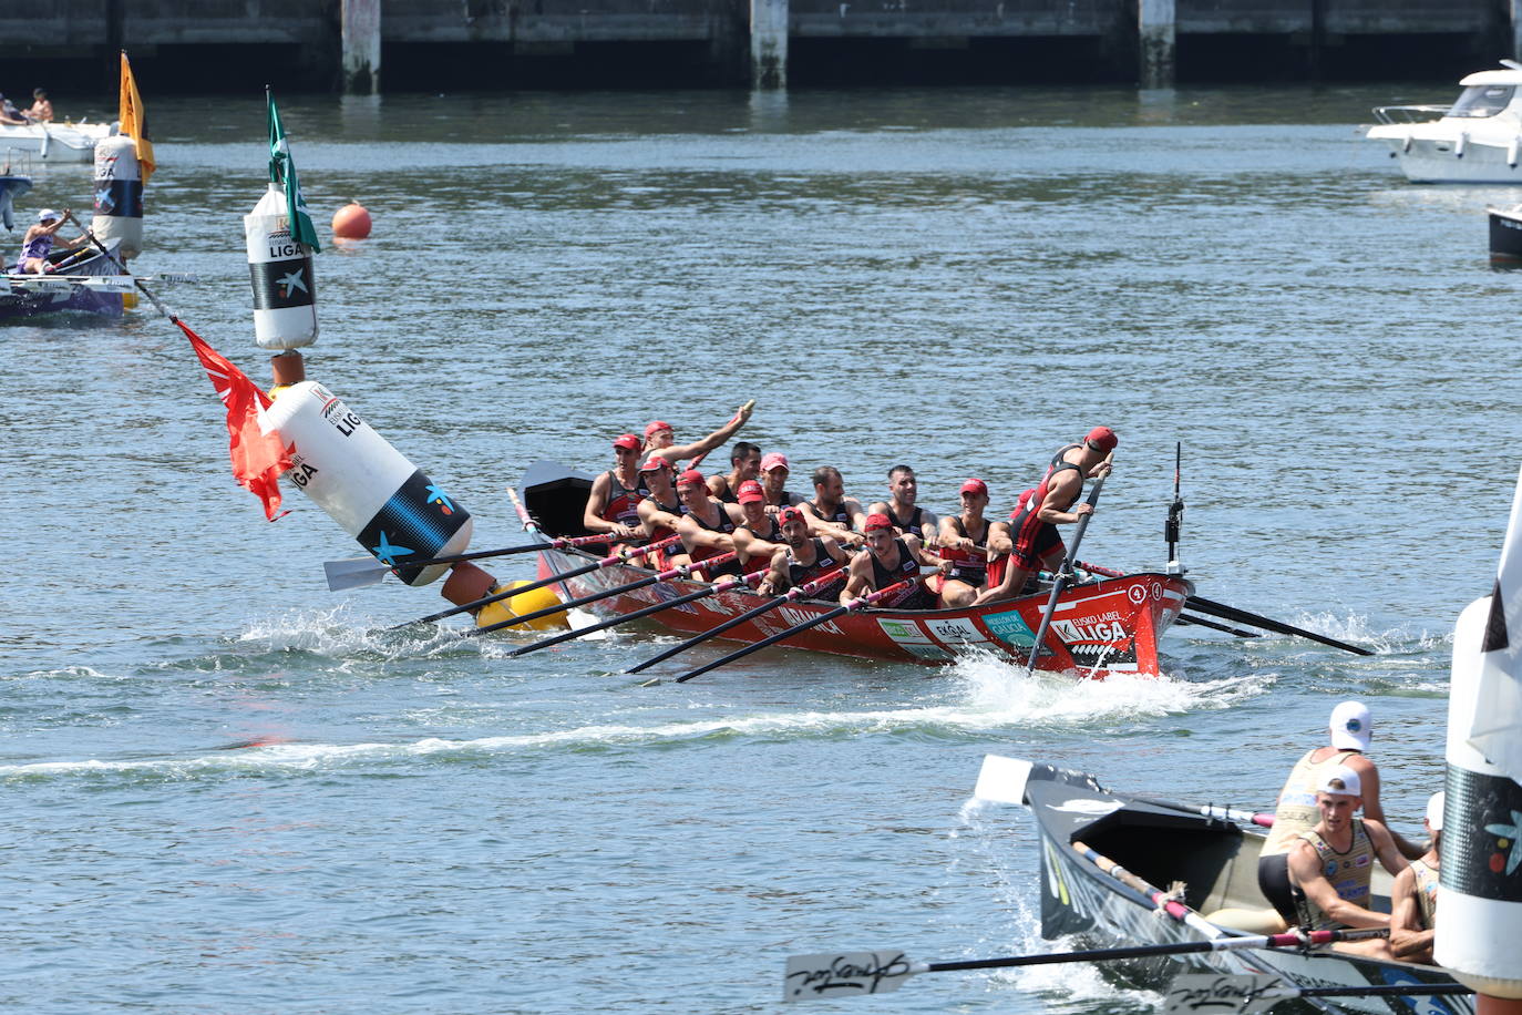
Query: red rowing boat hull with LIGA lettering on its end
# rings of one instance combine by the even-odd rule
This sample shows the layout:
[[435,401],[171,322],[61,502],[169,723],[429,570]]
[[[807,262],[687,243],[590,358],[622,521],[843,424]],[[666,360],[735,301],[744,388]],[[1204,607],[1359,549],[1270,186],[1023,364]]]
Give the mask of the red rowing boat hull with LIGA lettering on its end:
[[[556,463],[537,463],[522,482],[522,501],[546,537],[581,536],[581,511],[592,479]],[[545,548],[539,554],[540,577],[571,571],[597,560],[581,549]],[[612,565],[560,583],[565,598],[591,595],[647,578],[653,571]],[[697,592],[699,581],[670,580],[597,601],[589,609],[618,616]],[[1058,600],[1036,668],[1105,677],[1113,673],[1160,673],[1157,642],[1178,619],[1193,584],[1178,575],[1138,572],[1119,578],[1068,586]],[[787,639],[787,645],[813,651],[942,663],[971,651],[992,651],[1026,662],[1041,625],[1047,592],[959,610],[880,610],[845,613]],[[648,619],[670,632],[699,635],[766,600],[750,592],[720,592],[673,606]],[[799,600],[761,613],[721,635],[723,639],[758,642],[819,616],[839,603]]]

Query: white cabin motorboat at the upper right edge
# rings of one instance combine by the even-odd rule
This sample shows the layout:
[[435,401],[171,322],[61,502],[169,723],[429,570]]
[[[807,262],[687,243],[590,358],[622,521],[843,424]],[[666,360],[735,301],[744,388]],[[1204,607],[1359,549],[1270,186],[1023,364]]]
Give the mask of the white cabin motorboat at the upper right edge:
[[1365,137],[1412,183],[1522,183],[1522,64],[1481,70],[1452,105],[1385,105]]

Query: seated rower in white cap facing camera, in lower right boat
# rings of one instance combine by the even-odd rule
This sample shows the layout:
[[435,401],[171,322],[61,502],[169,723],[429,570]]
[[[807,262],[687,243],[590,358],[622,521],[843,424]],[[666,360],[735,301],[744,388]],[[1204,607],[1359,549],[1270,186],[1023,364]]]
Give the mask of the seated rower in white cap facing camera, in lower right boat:
[[[1368,908],[1374,858],[1393,875],[1406,869],[1406,858],[1382,822],[1353,817],[1364,805],[1359,775],[1347,765],[1327,773],[1317,787],[1321,819],[1310,831],[1297,832],[1289,849],[1289,884],[1295,899],[1295,922],[1306,930],[1342,927],[1390,927],[1387,913]],[[1341,942],[1338,950],[1390,959],[1383,937]]]

